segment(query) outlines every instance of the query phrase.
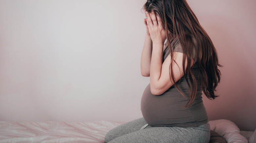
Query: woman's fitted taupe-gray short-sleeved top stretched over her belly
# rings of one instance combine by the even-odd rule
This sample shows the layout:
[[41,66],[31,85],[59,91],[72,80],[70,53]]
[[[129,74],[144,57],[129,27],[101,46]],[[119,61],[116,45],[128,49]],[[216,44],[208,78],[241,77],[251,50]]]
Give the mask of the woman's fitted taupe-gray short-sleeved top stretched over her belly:
[[[182,53],[181,45],[177,39],[175,46],[174,40],[170,42],[173,51]],[[167,47],[166,44],[165,47]],[[163,61],[168,55],[169,50],[166,48],[163,52]],[[197,62],[192,67],[192,72],[197,81],[197,92],[194,102],[189,107],[184,107],[189,100],[188,85],[184,76],[181,77],[180,82],[177,82],[177,85],[185,97],[174,86],[161,95],[151,94],[150,84],[145,88],[141,98],[141,112],[150,126],[198,127],[208,122],[202,100],[203,90],[199,85],[200,75],[198,75]]]

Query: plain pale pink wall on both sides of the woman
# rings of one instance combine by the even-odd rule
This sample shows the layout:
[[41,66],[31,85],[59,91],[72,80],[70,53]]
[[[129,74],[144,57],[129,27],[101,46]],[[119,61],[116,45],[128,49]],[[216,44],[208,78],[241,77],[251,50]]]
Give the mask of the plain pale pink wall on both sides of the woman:
[[[145,0],[0,0],[0,120],[142,117]],[[256,128],[256,1],[188,0],[219,55],[210,120]]]

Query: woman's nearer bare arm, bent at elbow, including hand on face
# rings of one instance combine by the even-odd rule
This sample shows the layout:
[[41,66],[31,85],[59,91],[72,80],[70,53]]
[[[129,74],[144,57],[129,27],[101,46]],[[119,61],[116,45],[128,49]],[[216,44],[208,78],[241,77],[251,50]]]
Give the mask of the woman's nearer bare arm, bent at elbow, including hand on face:
[[[150,89],[152,94],[160,95],[169,89],[174,84],[174,82],[177,82],[184,75],[182,66],[183,53],[174,52],[173,56],[175,62],[171,63],[171,56],[168,55],[162,63],[162,47],[165,40],[165,31],[162,28],[160,18],[156,17],[154,12],[152,12],[150,15],[149,13],[146,13],[146,15],[147,25],[153,45],[150,64]],[[170,64],[173,66],[173,79],[170,78]],[[185,67],[186,65],[187,61],[185,61]]]

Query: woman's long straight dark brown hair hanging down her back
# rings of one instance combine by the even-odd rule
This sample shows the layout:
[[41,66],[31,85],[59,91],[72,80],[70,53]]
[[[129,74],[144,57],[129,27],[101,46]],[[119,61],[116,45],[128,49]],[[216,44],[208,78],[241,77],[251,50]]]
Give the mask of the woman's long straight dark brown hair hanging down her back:
[[[197,91],[196,79],[190,68],[193,58],[192,47],[195,48],[195,61],[198,62],[199,72],[201,73],[200,84],[203,88],[203,93],[209,99],[218,97],[214,94],[214,91],[216,91],[221,76],[218,66],[222,67],[222,65],[219,64],[217,52],[210,37],[199,24],[196,15],[188,6],[186,0],[147,0],[143,9],[149,13],[155,12],[160,17],[163,28],[166,31],[166,39],[168,39],[167,44],[171,55],[171,63],[174,61],[174,56],[170,39],[173,38],[175,41],[177,38],[181,44],[183,50],[183,72],[189,89],[189,101],[185,107],[189,107],[193,103]],[[184,70],[185,60],[188,63],[186,71]],[[170,78],[174,79],[172,67],[172,64],[170,64],[169,72]],[[174,86],[181,92],[176,83],[174,83]],[[181,94],[183,95],[182,92]]]

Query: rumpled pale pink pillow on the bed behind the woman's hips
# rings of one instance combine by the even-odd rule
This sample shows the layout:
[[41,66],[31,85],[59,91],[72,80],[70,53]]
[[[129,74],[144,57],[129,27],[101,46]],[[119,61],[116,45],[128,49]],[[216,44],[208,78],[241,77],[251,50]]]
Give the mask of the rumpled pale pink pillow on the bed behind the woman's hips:
[[223,136],[227,143],[244,143],[247,139],[240,134],[240,130],[235,123],[226,119],[209,121],[211,130]]

